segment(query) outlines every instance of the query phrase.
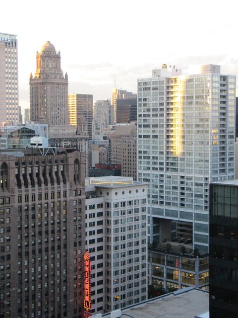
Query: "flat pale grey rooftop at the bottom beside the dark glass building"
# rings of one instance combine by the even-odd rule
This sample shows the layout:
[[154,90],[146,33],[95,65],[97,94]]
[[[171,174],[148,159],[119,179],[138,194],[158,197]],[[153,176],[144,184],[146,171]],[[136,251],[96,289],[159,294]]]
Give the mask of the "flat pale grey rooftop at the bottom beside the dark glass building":
[[195,288],[178,292],[122,310],[121,318],[194,318],[209,311],[209,293]]

